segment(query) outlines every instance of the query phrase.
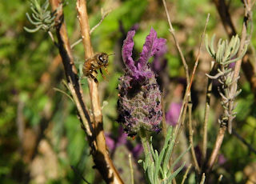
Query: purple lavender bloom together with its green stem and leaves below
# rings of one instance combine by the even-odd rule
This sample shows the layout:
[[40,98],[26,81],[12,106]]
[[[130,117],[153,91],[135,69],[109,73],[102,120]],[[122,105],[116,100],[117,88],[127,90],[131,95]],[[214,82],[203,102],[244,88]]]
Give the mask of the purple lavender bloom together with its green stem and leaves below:
[[[146,154],[143,168],[147,182],[152,184],[171,183],[171,180],[185,165],[184,163],[178,170],[171,173],[175,164],[183,155],[181,154],[173,165],[169,167],[170,155],[175,140],[174,136],[172,136],[172,127],[170,126],[168,130],[165,145],[160,154],[153,149],[152,137],[148,140],[146,135],[146,130],[158,133],[161,131],[159,124],[162,121],[162,94],[148,61],[158,50],[162,49],[166,39],[157,38],[156,31],[151,28],[150,34],[146,37],[140,58],[138,61],[134,61],[131,57],[134,47],[134,34],[134,30],[129,31],[122,46],[122,58],[126,64],[126,69],[125,75],[119,78],[117,122],[124,124],[124,131],[128,136],[133,137],[139,133],[142,138],[142,145]],[[142,160],[139,162],[142,162]]]

